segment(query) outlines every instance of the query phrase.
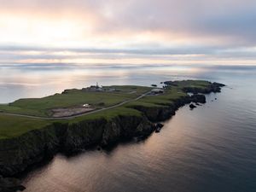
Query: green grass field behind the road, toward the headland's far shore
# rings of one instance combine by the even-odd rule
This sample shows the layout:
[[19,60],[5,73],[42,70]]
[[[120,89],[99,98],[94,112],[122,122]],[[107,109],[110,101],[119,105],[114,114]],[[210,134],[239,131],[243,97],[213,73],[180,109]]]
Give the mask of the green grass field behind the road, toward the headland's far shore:
[[[44,98],[20,99],[9,105],[0,105],[0,110],[7,113],[29,114],[47,117],[52,108],[70,108],[89,103],[95,108],[106,108],[119,102],[131,100],[150,90],[141,86],[112,86],[118,92],[85,92],[69,90],[67,94],[55,94]],[[137,92],[135,92],[137,91]],[[133,92],[133,93],[131,93]],[[100,106],[100,103],[104,103]]]

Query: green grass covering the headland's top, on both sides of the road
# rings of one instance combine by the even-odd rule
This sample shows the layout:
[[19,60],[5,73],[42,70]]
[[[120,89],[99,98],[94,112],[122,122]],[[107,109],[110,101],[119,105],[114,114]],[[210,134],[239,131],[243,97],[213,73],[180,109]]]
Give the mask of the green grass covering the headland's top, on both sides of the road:
[[[43,98],[20,99],[15,102],[0,105],[0,139],[18,137],[26,131],[44,128],[53,122],[75,123],[86,119],[112,119],[118,115],[142,115],[141,112],[133,109],[132,106],[155,107],[172,103],[173,100],[180,96],[186,96],[183,87],[197,86],[207,87],[210,83],[207,81],[177,81],[174,85],[170,85],[164,94],[157,96],[143,96],[137,101],[132,99],[141,96],[152,88],[142,86],[110,86],[118,91],[113,92],[90,92],[83,90],[67,90],[65,94],[55,94],[54,96],[46,96]],[[117,103],[129,101],[125,105],[109,108],[105,111],[83,115],[73,119],[32,119],[26,117],[9,116],[5,113],[30,114],[35,116],[50,116],[51,108],[70,108],[84,103],[101,108],[99,103],[104,103],[104,108],[113,106]],[[3,112],[1,114],[1,111]]]

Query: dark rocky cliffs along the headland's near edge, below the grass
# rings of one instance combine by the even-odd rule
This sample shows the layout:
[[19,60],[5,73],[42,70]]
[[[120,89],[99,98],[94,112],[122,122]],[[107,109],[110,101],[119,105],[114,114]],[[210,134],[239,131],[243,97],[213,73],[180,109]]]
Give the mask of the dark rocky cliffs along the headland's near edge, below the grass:
[[[168,83],[166,83],[168,84]],[[54,123],[20,137],[0,140],[0,192],[25,189],[14,177],[56,153],[73,153],[91,146],[107,146],[132,137],[148,137],[156,122],[172,117],[178,108],[191,102],[205,103],[207,94],[219,92],[224,84],[213,83],[207,89],[184,88],[192,96],[182,96],[170,105],[134,106],[141,116],[116,116],[113,119],[84,120],[79,123]],[[10,178],[12,177],[12,178]]]

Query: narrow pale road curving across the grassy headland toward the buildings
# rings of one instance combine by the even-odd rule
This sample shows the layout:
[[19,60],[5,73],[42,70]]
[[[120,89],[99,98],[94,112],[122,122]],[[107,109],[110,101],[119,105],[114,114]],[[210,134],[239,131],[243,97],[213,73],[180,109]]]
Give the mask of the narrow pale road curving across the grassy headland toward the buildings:
[[40,116],[33,116],[33,115],[26,115],[26,114],[18,114],[18,113],[4,113],[4,112],[0,112],[0,114],[4,114],[4,115],[11,115],[11,116],[16,116],[16,117],[25,117],[25,118],[32,118],[32,119],[49,119],[49,120],[55,120],[55,119],[73,119],[73,118],[77,118],[77,117],[81,117],[81,116],[85,116],[85,115],[89,115],[92,113],[98,113],[98,112],[102,112],[111,108],[117,108],[120,107],[122,105],[125,105],[128,102],[136,102],[137,100],[143,98],[143,96],[147,96],[148,93],[150,93],[150,91],[144,93],[141,96],[138,96],[135,99],[131,99],[131,100],[127,100],[125,102],[120,102],[116,105],[110,106],[108,108],[100,108],[100,109],[96,109],[90,112],[85,112],[85,113],[79,113],[79,114],[74,114],[71,116],[65,116],[65,117],[40,117]]

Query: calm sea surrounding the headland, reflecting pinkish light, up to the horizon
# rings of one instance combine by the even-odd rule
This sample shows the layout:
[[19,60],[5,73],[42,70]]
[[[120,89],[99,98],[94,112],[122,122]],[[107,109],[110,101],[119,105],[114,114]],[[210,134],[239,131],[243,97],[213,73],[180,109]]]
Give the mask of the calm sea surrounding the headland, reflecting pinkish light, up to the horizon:
[[[1,66],[0,102],[47,96],[98,82],[227,84],[207,104],[180,108],[160,133],[110,151],[61,154],[24,178],[26,192],[256,191],[256,67],[119,65]],[[217,98],[217,100],[215,100]]]

